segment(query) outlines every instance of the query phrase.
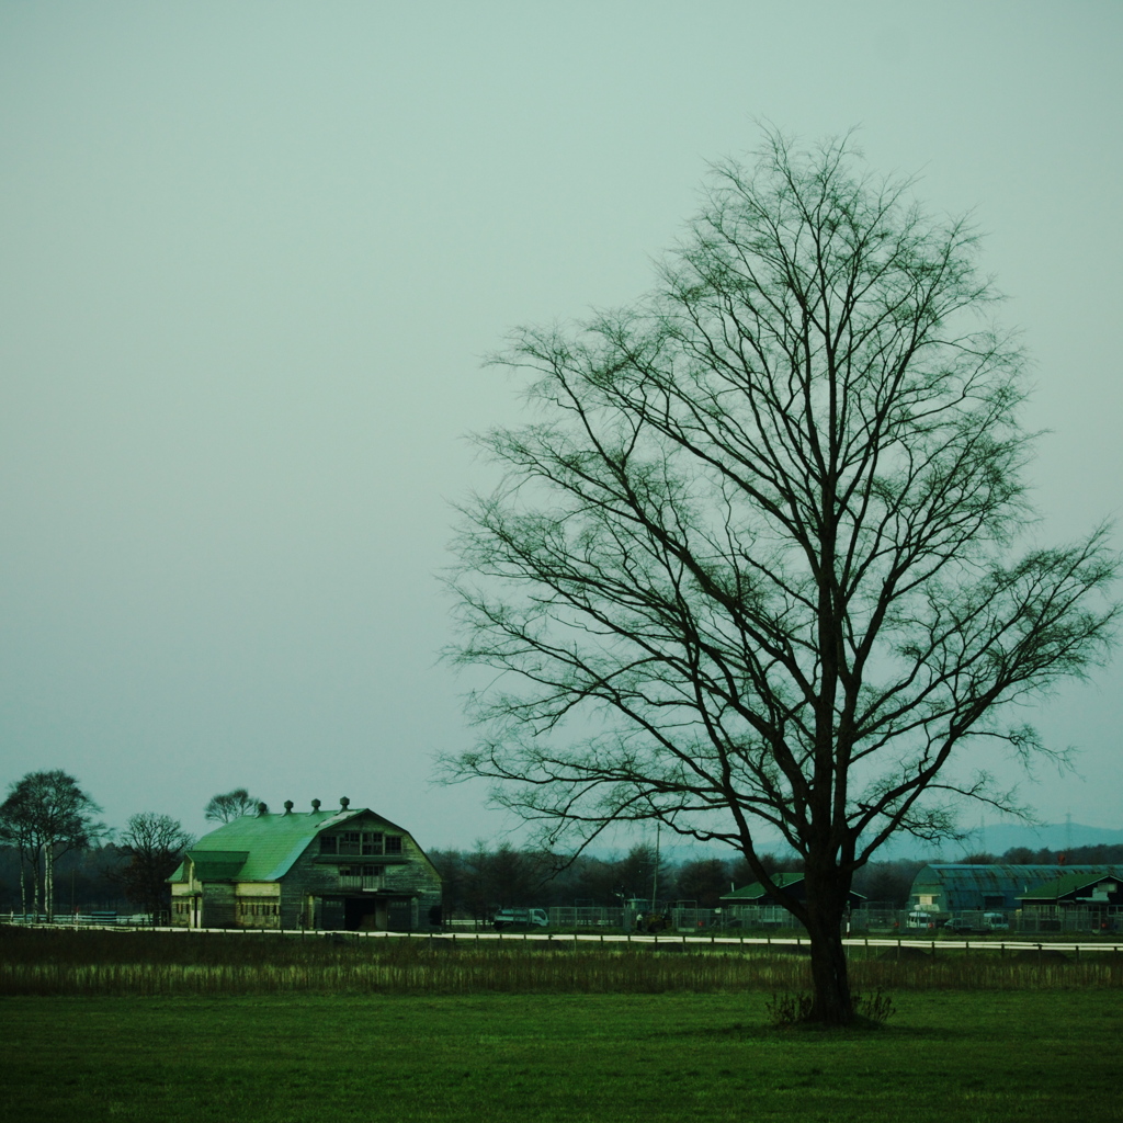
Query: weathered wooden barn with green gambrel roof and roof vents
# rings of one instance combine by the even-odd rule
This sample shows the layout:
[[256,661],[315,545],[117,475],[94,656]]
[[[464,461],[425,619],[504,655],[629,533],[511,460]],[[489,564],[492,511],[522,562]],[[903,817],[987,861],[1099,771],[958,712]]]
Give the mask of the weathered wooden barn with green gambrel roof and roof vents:
[[[168,878],[184,928],[417,932],[440,924],[440,875],[366,807],[262,810],[204,834]],[[264,805],[263,805],[264,809]]]

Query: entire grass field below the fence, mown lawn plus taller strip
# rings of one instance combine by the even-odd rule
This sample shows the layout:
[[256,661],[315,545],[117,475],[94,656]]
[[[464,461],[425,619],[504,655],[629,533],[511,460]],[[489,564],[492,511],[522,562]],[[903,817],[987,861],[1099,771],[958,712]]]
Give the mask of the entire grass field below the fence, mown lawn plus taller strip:
[[[907,952],[907,955],[905,955]],[[767,1028],[773,949],[0,928],[0,1123],[1098,1123],[1123,957],[853,949],[877,1031]]]

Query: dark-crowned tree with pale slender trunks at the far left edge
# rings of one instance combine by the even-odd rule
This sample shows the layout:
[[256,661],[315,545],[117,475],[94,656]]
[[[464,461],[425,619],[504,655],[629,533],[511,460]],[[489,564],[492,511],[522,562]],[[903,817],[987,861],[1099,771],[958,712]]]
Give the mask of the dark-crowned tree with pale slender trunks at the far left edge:
[[[93,822],[100,810],[73,776],[57,768],[28,773],[0,805],[0,839],[19,851],[21,888],[24,864],[30,869],[33,911],[42,907],[48,921],[55,919],[55,861],[104,833],[103,824]],[[26,897],[22,904],[26,912]]]

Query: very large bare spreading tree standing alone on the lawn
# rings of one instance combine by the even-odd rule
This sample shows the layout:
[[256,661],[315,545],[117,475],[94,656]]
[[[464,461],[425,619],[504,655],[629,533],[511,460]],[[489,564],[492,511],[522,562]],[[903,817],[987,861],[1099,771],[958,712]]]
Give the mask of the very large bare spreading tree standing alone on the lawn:
[[453,656],[501,674],[453,774],[548,838],[728,843],[773,889],[778,832],[829,1024],[855,871],[960,796],[1008,807],[994,757],[1048,754],[1010,704],[1112,640],[1105,533],[1023,537],[1023,358],[976,257],[847,140],[774,133],[714,167],[650,296],[513,335],[537,416],[481,438],[503,480],[463,508]]

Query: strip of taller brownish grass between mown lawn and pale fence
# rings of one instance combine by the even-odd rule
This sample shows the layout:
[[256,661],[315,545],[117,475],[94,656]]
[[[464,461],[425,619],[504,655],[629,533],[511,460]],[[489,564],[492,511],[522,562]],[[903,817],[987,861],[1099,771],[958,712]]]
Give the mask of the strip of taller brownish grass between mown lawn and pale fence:
[[[798,992],[806,949],[0,928],[0,995]],[[851,949],[856,990],[1123,988],[1123,956]]]

